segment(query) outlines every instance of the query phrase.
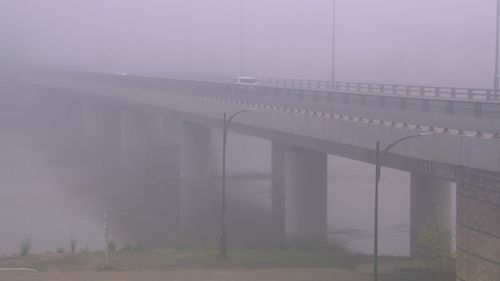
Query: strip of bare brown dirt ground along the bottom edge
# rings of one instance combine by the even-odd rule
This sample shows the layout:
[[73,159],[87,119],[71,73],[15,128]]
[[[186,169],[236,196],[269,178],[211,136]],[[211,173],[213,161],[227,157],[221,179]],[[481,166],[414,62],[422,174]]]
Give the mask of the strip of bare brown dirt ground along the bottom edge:
[[369,281],[350,269],[0,272],[0,281]]

